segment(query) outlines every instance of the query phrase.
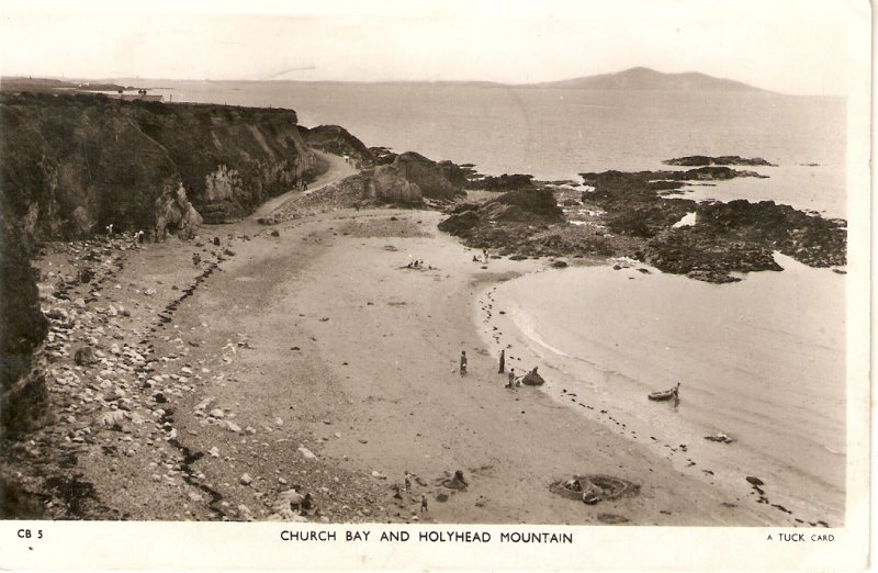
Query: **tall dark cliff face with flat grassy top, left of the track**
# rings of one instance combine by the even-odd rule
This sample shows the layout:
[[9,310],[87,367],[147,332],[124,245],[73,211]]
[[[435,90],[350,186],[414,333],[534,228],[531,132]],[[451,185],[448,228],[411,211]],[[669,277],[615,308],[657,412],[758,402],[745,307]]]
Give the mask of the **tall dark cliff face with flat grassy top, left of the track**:
[[295,112],[120,102],[100,96],[0,99],[3,209],[40,238],[143,229],[156,239],[244,216],[313,177]]

